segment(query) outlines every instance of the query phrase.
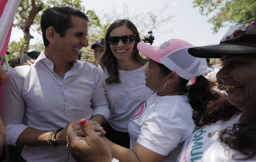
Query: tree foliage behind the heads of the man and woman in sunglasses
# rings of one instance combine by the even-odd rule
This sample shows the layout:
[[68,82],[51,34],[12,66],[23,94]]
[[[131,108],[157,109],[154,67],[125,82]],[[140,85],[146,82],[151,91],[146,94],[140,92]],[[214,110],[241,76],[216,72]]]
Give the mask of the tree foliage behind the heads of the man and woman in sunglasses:
[[[14,26],[23,30],[24,46],[16,48],[16,50],[20,49],[20,55],[22,55],[24,51],[43,50],[42,43],[36,43],[35,45],[30,46],[28,45],[30,39],[33,38],[33,36],[30,35],[30,29],[34,32],[37,31],[39,34],[41,34],[39,24],[41,19],[41,13],[44,9],[48,7],[63,5],[72,6],[86,13],[89,19],[89,31],[87,36],[89,41],[89,47],[82,48],[81,59],[87,60],[92,63],[95,62],[95,60],[93,57],[93,50],[90,47],[93,43],[95,43],[96,40],[98,40],[98,38],[104,38],[108,26],[113,23],[113,21],[117,19],[129,19],[135,24],[135,26],[137,26],[141,38],[143,38],[146,37],[148,32],[151,30],[157,32],[157,29],[160,26],[163,26],[165,23],[171,21],[171,19],[174,17],[173,15],[164,15],[164,17],[161,15],[161,13],[165,11],[167,6],[164,6],[164,8],[160,11],[158,15],[154,15],[152,12],[140,13],[137,12],[139,11],[137,9],[135,9],[135,12],[130,12],[130,9],[128,9],[128,6],[126,4],[123,5],[122,13],[117,13],[114,7],[112,13],[102,12],[100,13],[102,15],[96,15],[93,10],[85,11],[85,7],[80,4],[81,0],[21,0],[19,9],[15,15],[16,19],[14,22]],[[129,15],[129,13],[132,13],[132,15]],[[27,22],[28,20],[30,21],[30,23]],[[12,51],[13,47],[13,45],[9,45],[8,51]]]

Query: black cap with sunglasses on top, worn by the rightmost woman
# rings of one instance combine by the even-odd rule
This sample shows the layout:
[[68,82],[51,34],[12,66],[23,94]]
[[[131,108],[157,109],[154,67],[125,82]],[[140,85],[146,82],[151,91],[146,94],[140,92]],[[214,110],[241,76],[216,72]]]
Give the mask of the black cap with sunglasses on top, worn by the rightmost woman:
[[256,54],[256,19],[232,26],[219,45],[189,48],[198,58],[221,58],[222,54]]

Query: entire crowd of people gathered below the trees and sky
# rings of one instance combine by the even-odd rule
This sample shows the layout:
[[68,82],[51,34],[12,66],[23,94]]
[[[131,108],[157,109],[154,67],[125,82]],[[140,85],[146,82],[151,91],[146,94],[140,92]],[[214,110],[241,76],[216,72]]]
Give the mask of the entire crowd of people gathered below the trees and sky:
[[46,9],[45,50],[2,64],[0,153],[21,145],[27,162],[256,161],[255,20],[220,45],[153,47],[120,19],[91,46],[94,65],[79,59],[88,23],[77,9]]

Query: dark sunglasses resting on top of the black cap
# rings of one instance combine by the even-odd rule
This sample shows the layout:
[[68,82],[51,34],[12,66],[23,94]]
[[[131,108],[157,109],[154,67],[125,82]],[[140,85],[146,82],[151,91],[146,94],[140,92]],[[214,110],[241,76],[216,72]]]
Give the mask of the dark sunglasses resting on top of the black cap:
[[243,23],[232,26],[221,39],[221,43],[231,42],[243,38],[247,34],[256,35],[256,26],[250,23]]

